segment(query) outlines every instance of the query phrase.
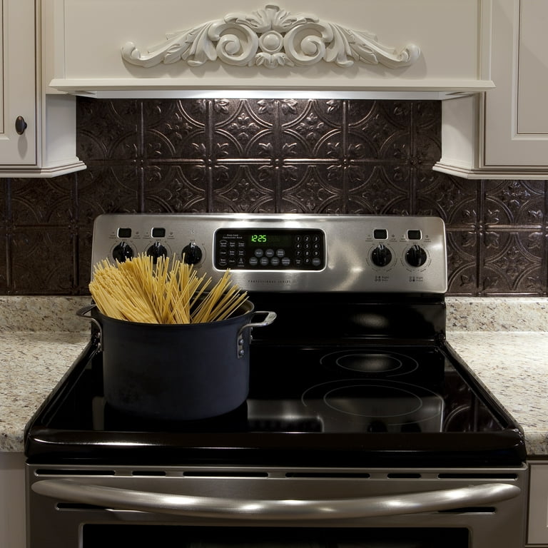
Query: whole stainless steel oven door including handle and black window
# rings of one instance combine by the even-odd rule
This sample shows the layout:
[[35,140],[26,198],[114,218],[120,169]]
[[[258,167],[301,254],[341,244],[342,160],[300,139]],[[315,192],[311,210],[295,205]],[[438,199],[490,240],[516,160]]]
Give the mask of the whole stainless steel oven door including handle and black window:
[[522,548],[527,469],[27,467],[32,548]]

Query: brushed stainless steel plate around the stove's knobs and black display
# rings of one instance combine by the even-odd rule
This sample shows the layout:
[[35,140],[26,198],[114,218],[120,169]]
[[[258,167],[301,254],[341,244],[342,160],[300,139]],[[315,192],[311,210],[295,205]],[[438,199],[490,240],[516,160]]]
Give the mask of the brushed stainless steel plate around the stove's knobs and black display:
[[[440,218],[382,215],[299,214],[106,214],[93,228],[92,263],[109,258],[118,245],[131,252],[146,253],[155,243],[168,256],[181,258],[183,248],[196,244],[203,255],[196,268],[213,282],[225,268],[215,268],[215,230],[319,230],[325,237],[325,265],[304,270],[291,264],[281,270],[273,266],[230,266],[232,278],[248,291],[445,293],[447,250],[445,225]],[[124,229],[124,230],[120,230]],[[153,230],[156,229],[156,230]],[[161,229],[161,230],[158,230]],[[165,230],[163,237],[153,237]],[[375,232],[376,231],[376,232]],[[411,232],[410,232],[411,231]],[[123,233],[131,233],[124,237]],[[385,238],[378,235],[385,233]],[[377,237],[375,237],[375,234]],[[415,238],[410,238],[410,235]],[[419,238],[417,238],[417,235]],[[406,258],[417,245],[425,263],[412,266]],[[373,252],[382,246],[390,253],[387,264],[375,264]],[[275,252],[275,249],[273,249]]]

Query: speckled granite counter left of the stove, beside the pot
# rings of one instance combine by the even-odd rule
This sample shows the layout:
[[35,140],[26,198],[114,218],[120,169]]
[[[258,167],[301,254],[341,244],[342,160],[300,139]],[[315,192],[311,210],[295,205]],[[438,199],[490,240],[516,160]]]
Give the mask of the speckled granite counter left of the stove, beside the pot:
[[88,340],[89,298],[0,296],[0,451],[23,451],[24,427]]

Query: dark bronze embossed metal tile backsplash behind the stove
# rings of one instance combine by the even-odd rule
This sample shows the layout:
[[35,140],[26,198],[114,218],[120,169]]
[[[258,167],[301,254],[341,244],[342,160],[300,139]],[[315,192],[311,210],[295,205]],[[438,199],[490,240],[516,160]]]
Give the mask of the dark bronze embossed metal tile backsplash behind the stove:
[[0,294],[85,295],[105,212],[440,215],[452,295],[548,295],[547,181],[432,171],[437,101],[78,98],[88,169],[0,179]]

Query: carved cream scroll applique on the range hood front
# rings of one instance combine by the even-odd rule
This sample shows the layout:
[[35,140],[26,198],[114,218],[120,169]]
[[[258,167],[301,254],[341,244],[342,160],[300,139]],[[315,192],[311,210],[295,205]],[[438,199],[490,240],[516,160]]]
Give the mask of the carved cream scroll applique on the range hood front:
[[320,61],[341,67],[355,61],[397,68],[413,64],[420,56],[415,44],[397,51],[382,46],[374,34],[353,31],[312,14],[290,14],[268,5],[251,14],[228,14],[188,31],[167,35],[167,41],[146,54],[133,42],[122,47],[128,63],[151,67],[186,61],[200,66],[220,61],[234,66],[310,66]]

